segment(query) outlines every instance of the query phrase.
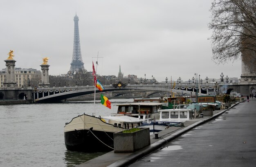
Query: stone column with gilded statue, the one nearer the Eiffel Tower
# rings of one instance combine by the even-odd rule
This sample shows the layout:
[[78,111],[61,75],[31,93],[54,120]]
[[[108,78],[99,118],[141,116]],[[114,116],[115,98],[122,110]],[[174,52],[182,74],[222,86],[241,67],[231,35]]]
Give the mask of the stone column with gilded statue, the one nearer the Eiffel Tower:
[[50,86],[49,83],[49,65],[47,64],[48,58],[43,58],[43,64],[41,64],[41,82],[39,83],[39,88],[48,88]]

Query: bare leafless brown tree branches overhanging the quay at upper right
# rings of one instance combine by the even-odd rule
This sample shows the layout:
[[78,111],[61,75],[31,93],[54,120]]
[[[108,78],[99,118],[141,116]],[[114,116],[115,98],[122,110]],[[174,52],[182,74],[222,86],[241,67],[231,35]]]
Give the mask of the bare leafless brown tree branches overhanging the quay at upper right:
[[212,59],[224,64],[242,53],[256,60],[256,0],[213,0],[210,11]]

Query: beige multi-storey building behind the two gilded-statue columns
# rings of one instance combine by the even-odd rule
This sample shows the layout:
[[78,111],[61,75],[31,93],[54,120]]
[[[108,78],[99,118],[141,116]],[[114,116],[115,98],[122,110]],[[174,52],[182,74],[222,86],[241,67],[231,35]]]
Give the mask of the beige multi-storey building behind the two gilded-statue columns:
[[[33,68],[15,68],[15,81],[17,88],[27,88],[28,86],[36,87],[41,80],[40,70]],[[0,70],[0,87],[4,87],[4,80],[6,80],[6,68]]]

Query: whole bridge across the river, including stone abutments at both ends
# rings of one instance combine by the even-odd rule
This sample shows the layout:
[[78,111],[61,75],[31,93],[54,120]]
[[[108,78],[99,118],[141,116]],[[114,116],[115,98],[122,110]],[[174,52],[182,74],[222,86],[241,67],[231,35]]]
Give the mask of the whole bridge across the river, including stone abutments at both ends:
[[[113,87],[113,85],[104,85],[105,90],[102,93],[110,98],[115,97],[152,97],[168,96],[172,93],[175,96],[190,96],[198,94],[223,94],[231,91],[248,95],[255,93],[256,83],[204,83],[204,84],[177,84],[174,88],[171,84],[128,84],[127,86]],[[96,90],[99,99],[99,90]],[[34,102],[59,102],[72,97],[94,94],[94,86],[74,86],[74,87],[53,87],[53,88],[0,88],[0,100],[31,100]]]

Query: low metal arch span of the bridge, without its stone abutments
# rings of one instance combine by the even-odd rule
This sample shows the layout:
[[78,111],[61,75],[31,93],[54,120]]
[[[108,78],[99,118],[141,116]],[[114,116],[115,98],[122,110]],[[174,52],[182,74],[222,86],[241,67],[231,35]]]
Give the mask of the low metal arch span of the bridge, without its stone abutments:
[[[166,92],[166,94],[183,94],[184,96],[195,95],[198,89],[194,84],[180,84],[171,87],[170,84],[128,84],[126,86],[113,87],[113,85],[104,85],[103,92],[115,92],[115,96],[128,92],[144,92],[144,96],[150,96],[157,92]],[[208,91],[217,91],[215,84],[200,85],[200,94],[208,94]],[[100,91],[96,88],[96,93]],[[77,97],[86,94],[93,94],[94,86],[76,86],[76,87],[53,87],[53,88],[37,88],[33,90],[34,101],[38,103],[58,102],[64,99]]]

